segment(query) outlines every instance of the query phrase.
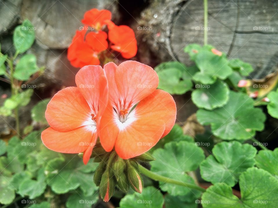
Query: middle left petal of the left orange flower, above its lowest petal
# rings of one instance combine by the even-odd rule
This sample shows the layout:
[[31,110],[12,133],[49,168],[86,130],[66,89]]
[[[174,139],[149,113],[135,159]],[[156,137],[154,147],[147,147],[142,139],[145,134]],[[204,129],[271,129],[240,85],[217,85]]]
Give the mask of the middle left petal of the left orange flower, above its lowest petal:
[[92,122],[89,105],[76,87],[57,92],[47,105],[45,118],[56,131],[70,131]]

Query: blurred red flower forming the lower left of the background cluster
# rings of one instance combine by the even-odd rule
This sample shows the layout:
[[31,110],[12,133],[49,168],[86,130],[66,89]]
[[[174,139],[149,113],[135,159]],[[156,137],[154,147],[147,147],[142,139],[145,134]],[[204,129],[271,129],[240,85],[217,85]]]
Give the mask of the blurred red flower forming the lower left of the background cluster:
[[[107,34],[103,31],[77,30],[67,50],[67,58],[74,67],[99,65],[98,54],[108,47]],[[85,37],[86,36],[86,37]]]

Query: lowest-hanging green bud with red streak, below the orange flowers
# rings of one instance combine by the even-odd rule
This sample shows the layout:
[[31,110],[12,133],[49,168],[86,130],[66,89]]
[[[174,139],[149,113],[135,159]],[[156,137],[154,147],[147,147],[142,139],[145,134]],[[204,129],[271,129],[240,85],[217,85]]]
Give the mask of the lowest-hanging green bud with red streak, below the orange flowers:
[[105,170],[101,177],[100,185],[99,185],[99,194],[103,201],[108,202],[111,196],[114,193],[115,182],[113,176],[109,174],[108,170]]

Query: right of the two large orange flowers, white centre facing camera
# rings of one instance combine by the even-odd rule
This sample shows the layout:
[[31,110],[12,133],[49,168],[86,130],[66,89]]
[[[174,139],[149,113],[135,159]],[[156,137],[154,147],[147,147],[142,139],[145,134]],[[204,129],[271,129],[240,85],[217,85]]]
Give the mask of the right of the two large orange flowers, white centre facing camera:
[[145,64],[125,61],[104,66],[109,86],[109,104],[99,126],[100,143],[114,147],[123,159],[148,151],[172,129],[176,118],[173,97],[156,90],[158,75]]

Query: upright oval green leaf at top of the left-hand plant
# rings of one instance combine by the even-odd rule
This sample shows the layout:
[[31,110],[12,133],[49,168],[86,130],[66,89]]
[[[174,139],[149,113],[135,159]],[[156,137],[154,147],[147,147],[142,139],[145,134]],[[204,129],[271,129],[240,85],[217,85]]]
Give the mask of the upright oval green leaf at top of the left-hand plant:
[[32,23],[27,19],[14,29],[13,42],[18,53],[24,53],[32,46],[35,40],[34,29]]

